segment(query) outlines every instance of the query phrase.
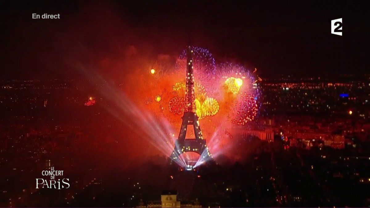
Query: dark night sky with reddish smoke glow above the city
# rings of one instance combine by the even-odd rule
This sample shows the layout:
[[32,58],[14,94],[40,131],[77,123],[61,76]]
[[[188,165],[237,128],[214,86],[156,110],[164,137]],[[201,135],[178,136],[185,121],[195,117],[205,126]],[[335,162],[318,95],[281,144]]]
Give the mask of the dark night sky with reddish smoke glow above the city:
[[[189,41],[265,76],[369,72],[366,1],[0,4],[2,80],[76,78],[81,65],[117,77],[160,54],[176,57]],[[330,34],[338,18],[343,36]]]

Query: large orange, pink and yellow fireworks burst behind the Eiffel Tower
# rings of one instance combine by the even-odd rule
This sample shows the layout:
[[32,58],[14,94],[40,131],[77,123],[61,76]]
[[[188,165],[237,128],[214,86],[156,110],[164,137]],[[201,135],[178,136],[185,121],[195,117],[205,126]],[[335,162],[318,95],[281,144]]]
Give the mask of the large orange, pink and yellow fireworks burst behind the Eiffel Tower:
[[[207,147],[214,156],[223,148],[233,145],[233,129],[246,125],[258,116],[259,89],[253,83],[260,78],[255,68],[246,70],[234,63],[216,64],[212,54],[203,48],[194,50],[194,91],[196,115]],[[250,71],[250,72],[249,72]],[[136,104],[151,112],[158,120],[168,122],[173,144],[181,127],[185,105],[185,50],[174,64],[161,59],[152,61],[141,74],[131,74],[132,80],[140,78],[143,87],[126,85]],[[219,133],[215,133],[219,132]],[[171,149],[171,148],[169,148]],[[173,150],[173,149],[172,149]],[[169,151],[172,151],[169,150]]]

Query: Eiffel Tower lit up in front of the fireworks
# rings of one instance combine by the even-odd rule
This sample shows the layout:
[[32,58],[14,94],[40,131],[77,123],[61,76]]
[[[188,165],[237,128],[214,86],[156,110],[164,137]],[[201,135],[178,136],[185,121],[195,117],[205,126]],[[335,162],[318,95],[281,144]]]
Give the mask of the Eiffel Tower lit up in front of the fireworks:
[[[190,46],[187,48],[187,61],[186,61],[186,90],[185,90],[185,105],[184,115],[180,128],[179,138],[175,141],[175,148],[172,151],[171,158],[181,164],[179,155],[184,152],[196,152],[201,157],[211,157],[206,145],[206,140],[203,139],[201,127],[199,126],[198,116],[196,115],[195,107],[195,93],[194,93],[194,73],[193,73],[193,60],[192,54],[194,51]],[[186,131],[190,126],[194,128],[195,138],[187,138]],[[192,169],[192,166],[187,165],[186,169]]]

